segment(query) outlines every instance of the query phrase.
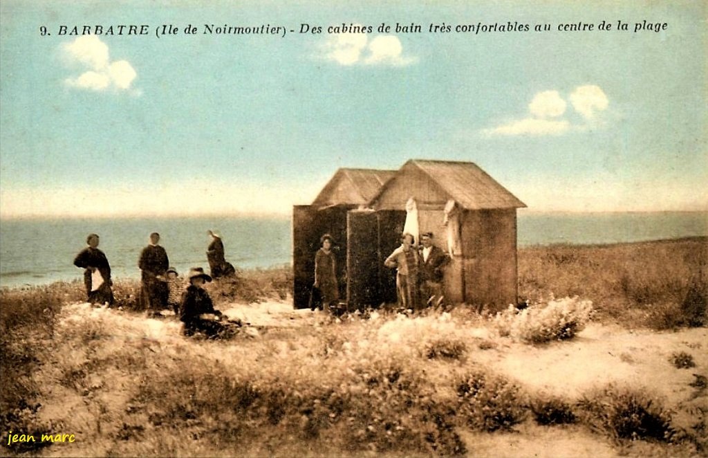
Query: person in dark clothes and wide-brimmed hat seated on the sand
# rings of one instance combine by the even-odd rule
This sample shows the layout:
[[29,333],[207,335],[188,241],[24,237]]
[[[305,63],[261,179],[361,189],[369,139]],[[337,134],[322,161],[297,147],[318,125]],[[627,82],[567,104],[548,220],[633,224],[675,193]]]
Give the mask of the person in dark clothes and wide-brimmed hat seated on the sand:
[[[230,323],[224,323],[226,317],[215,310],[212,298],[203,288],[212,277],[204,273],[201,267],[195,267],[188,274],[189,286],[182,297],[180,320],[184,323],[184,335],[204,333],[207,337],[226,337],[232,332]],[[234,323],[238,324],[238,323]]]

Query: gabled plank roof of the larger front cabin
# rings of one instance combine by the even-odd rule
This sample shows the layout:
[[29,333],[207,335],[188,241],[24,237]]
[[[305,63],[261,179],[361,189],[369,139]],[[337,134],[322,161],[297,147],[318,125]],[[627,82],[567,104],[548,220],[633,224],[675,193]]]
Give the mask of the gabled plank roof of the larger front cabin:
[[[376,208],[390,186],[401,186],[399,183],[405,182],[405,174],[411,171],[411,167],[423,172],[447,194],[447,199],[456,201],[464,209],[483,210],[526,206],[473,162],[440,160],[409,160],[396,172],[394,179],[390,179],[381,187],[370,201],[370,205]],[[411,183],[411,186],[417,184]],[[411,190],[411,195],[413,194]]]

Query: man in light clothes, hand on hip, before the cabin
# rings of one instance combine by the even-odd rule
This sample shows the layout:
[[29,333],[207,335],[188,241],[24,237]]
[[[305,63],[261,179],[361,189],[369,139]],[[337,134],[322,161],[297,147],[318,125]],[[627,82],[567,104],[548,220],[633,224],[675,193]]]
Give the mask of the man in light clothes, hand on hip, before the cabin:
[[404,233],[401,246],[396,248],[384,261],[390,269],[397,269],[396,292],[399,307],[418,309],[418,250],[414,246],[413,235]]

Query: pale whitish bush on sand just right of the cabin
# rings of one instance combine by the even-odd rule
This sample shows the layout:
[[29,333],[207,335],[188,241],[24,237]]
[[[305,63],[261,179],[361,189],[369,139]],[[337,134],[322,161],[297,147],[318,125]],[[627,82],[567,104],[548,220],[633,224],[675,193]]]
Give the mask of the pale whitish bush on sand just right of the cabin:
[[527,343],[567,340],[583,330],[593,313],[590,301],[577,297],[549,301],[547,305],[532,304],[519,311],[510,306],[492,320],[501,336],[510,336]]

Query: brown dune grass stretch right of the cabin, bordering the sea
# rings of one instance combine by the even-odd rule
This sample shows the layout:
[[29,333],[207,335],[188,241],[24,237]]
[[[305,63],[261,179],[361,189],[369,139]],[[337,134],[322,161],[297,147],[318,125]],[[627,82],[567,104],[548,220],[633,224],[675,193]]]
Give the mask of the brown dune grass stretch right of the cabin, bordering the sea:
[[707,323],[708,238],[519,250],[519,295],[579,296],[597,319],[657,330]]

